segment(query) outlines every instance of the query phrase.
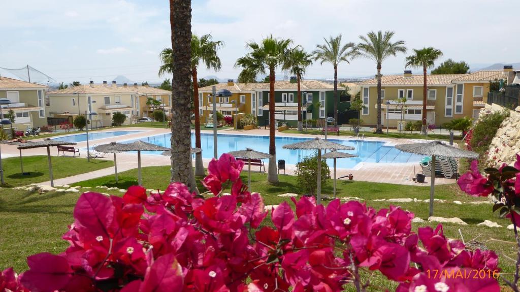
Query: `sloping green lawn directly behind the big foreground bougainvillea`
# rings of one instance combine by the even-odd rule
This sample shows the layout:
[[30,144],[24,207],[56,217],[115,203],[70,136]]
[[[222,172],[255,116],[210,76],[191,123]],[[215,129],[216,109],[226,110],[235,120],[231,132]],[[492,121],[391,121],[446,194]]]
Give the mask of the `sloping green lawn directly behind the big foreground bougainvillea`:
[[[169,166],[144,167],[143,181],[148,189],[164,190],[170,181]],[[96,178],[75,183],[82,187],[96,187],[107,185],[108,187],[127,188],[137,184],[137,170],[132,169],[121,172],[119,183],[116,184],[114,176]],[[301,194],[304,190],[296,182],[294,176],[280,175],[278,184],[266,183],[266,174],[252,173],[252,190],[262,194],[266,205],[276,205],[287,198],[279,197],[281,193]],[[201,178],[198,178],[199,180]],[[242,174],[242,181],[247,181],[246,172]],[[199,187],[203,190],[199,182]],[[86,190],[84,190],[86,191]],[[103,192],[121,195],[122,193],[102,190]],[[391,203],[374,202],[378,198],[429,198],[430,189],[421,186],[398,185],[388,183],[372,183],[361,181],[341,180],[337,183],[339,197],[365,198],[367,205],[376,209],[387,208]],[[323,187],[323,193],[332,194],[332,181],[329,180]],[[17,271],[27,269],[25,257],[42,251],[59,253],[67,247],[67,243],[61,240],[63,232],[67,231],[67,225],[73,221],[72,210],[79,194],[55,193],[30,194],[23,190],[0,190],[0,222],[4,228],[0,229],[0,269],[14,266]],[[435,197],[452,201],[462,201],[463,205],[452,203],[435,203],[434,215],[441,217],[459,217],[469,225],[444,224],[445,235],[451,238],[460,238],[461,231],[464,240],[470,241],[476,238],[488,248],[499,254],[500,267],[503,273],[512,273],[514,263],[505,256],[515,258],[515,245],[513,232],[505,228],[478,227],[476,224],[486,219],[498,222],[506,226],[509,220],[499,218],[492,213],[491,205],[470,204],[471,201],[483,201],[484,198],[474,198],[462,194],[457,185],[439,185],[436,188]],[[325,201],[327,203],[327,201]],[[393,203],[415,213],[416,217],[425,219],[428,216],[427,203]],[[41,222],[45,222],[42,224]],[[413,223],[413,230],[418,227],[432,226],[436,223]],[[30,234],[30,235],[29,235]],[[499,240],[499,241],[496,241]],[[365,274],[368,276],[368,274]],[[511,276],[509,276],[511,278]],[[392,282],[387,281],[379,273],[371,276],[370,282],[375,285],[370,291],[379,291],[381,287],[390,290],[395,289]],[[379,287],[379,288],[378,288]],[[351,291],[347,290],[347,291]]]

